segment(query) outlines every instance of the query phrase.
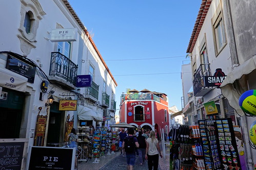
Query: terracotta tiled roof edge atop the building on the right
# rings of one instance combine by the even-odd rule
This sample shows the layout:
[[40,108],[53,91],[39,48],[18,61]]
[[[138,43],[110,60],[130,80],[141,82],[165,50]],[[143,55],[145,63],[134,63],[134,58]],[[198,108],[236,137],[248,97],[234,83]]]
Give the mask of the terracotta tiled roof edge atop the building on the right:
[[198,39],[198,35],[201,31],[201,28],[203,26],[205,17],[207,15],[207,12],[209,10],[209,7],[211,5],[212,0],[203,0],[201,7],[198,12],[198,17],[195,20],[194,29],[192,31],[192,35],[188,44],[187,53],[192,53],[194,49],[194,45],[196,40]]

